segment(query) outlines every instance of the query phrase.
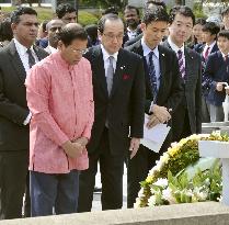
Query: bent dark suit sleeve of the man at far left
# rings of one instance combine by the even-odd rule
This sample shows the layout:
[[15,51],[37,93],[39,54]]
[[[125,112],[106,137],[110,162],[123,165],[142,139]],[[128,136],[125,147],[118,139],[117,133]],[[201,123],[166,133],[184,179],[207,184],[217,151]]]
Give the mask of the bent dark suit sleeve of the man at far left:
[[[30,111],[16,103],[11,102],[4,94],[4,79],[3,74],[0,70],[0,115],[16,123],[23,125],[23,122],[27,117]],[[10,78],[9,78],[10,79]]]

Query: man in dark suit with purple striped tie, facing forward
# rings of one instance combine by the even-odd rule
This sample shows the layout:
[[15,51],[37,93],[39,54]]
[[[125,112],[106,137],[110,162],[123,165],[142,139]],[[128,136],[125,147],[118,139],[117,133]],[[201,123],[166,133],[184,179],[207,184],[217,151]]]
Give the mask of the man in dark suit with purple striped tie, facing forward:
[[185,90],[172,117],[174,142],[202,132],[202,60],[195,50],[184,46],[192,34],[193,24],[195,15],[188,7],[176,5],[171,9],[170,35],[163,46],[175,52]]

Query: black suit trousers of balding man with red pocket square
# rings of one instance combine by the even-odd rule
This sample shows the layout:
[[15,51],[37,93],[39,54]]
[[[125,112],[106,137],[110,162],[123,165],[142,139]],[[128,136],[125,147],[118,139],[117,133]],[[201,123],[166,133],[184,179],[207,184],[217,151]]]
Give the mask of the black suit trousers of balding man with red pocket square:
[[78,212],[91,211],[98,161],[101,170],[102,210],[116,210],[123,206],[124,155],[111,154],[108,131],[105,128],[98,149],[89,154],[89,169],[80,173]]

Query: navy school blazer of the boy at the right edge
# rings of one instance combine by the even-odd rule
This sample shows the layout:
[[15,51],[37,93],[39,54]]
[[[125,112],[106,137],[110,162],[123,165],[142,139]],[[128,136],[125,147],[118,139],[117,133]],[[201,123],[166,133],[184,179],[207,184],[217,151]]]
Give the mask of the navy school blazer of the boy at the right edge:
[[217,82],[229,82],[229,61],[225,61],[220,50],[210,54],[203,76],[203,89],[207,90],[206,100],[220,106],[225,101],[225,91],[217,91]]

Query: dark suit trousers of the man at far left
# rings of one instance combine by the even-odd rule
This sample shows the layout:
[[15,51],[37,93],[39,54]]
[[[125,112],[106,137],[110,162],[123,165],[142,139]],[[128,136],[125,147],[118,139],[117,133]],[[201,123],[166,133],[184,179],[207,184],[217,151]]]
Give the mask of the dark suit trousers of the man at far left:
[[28,151],[0,151],[0,220],[22,217]]

